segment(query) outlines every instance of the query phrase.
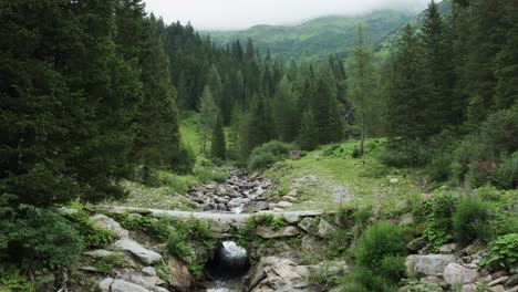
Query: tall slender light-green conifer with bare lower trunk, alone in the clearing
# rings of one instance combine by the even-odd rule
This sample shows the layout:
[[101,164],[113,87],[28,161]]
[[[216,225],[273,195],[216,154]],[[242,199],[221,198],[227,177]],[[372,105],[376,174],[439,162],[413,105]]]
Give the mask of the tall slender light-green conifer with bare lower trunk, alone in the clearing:
[[350,96],[354,101],[355,105],[360,109],[361,117],[361,138],[359,155],[363,156],[363,144],[366,137],[365,119],[366,117],[366,104],[369,98],[372,98],[372,88],[373,88],[373,64],[372,64],[372,53],[367,45],[365,44],[365,38],[363,34],[362,24],[358,25],[356,30],[356,41],[354,49],[351,53],[350,60]]

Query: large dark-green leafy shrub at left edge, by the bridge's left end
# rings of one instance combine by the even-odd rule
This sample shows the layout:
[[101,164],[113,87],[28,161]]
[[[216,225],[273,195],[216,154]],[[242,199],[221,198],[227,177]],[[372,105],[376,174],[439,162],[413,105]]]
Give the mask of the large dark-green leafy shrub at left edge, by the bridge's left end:
[[61,215],[22,206],[4,208],[0,217],[0,258],[31,269],[55,269],[79,262],[83,240]]

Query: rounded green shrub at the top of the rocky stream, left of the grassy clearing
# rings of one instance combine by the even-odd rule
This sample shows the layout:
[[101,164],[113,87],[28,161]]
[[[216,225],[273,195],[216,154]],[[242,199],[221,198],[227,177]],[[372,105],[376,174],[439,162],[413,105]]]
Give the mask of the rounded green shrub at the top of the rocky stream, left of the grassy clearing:
[[283,160],[288,157],[290,150],[296,147],[292,144],[287,144],[278,140],[271,140],[255,148],[248,158],[248,168],[252,170],[263,170],[272,166],[274,163]]

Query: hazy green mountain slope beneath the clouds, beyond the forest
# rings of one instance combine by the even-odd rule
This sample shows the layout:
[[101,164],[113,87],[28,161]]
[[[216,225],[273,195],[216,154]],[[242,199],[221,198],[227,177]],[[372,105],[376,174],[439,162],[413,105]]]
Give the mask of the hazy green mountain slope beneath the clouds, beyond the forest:
[[354,41],[356,24],[364,23],[365,35],[371,43],[380,40],[406,23],[412,15],[407,12],[383,10],[361,17],[324,17],[299,25],[256,25],[245,31],[209,31],[218,44],[236,39],[245,44],[251,38],[265,53],[284,59],[319,58],[329,53],[345,53]]

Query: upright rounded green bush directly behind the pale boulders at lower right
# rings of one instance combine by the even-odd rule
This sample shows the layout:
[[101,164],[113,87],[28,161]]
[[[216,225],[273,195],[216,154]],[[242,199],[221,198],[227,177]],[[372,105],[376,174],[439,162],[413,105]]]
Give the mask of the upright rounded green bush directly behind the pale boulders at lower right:
[[455,239],[468,244],[475,239],[487,242],[491,237],[490,206],[476,196],[463,198],[453,215],[453,233]]

